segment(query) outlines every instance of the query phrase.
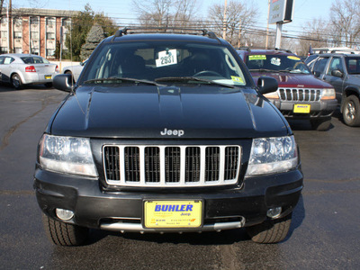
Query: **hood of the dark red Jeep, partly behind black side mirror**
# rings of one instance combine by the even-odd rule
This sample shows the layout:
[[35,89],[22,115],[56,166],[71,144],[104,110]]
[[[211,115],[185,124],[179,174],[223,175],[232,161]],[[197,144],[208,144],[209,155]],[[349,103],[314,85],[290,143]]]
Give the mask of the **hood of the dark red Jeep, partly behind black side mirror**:
[[[251,71],[250,71],[251,72]],[[320,80],[311,74],[299,74],[289,72],[251,72],[254,82],[260,76],[272,76],[277,80],[279,87],[295,87],[295,88],[333,88],[328,83]]]

